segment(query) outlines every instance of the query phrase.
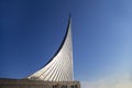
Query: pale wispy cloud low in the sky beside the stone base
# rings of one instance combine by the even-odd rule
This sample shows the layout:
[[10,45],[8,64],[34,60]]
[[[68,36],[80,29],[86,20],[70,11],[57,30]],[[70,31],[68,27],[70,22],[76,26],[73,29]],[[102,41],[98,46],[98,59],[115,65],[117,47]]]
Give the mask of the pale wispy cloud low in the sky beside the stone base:
[[97,81],[82,81],[81,88],[132,88],[132,76],[125,75]]

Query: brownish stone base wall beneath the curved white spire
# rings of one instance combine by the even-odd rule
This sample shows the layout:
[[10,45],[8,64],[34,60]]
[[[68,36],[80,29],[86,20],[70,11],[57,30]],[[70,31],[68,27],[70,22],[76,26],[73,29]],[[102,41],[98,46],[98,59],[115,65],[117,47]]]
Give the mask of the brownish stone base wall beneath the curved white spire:
[[0,78],[0,88],[80,88],[79,81],[44,81]]

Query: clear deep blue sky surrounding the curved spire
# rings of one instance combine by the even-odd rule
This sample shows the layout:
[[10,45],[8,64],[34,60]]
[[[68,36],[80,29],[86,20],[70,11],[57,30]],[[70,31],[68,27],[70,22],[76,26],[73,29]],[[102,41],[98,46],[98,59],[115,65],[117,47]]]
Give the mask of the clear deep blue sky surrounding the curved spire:
[[131,0],[1,0],[0,77],[40,69],[63,41],[72,13],[75,80],[132,74]]

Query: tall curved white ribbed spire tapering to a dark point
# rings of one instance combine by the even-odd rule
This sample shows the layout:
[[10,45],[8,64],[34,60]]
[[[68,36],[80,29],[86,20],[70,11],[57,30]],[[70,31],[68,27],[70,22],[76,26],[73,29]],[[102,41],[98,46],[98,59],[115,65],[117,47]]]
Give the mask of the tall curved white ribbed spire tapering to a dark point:
[[72,18],[61,47],[52,59],[40,70],[28,77],[35,80],[73,81]]

